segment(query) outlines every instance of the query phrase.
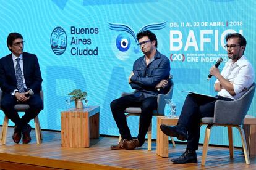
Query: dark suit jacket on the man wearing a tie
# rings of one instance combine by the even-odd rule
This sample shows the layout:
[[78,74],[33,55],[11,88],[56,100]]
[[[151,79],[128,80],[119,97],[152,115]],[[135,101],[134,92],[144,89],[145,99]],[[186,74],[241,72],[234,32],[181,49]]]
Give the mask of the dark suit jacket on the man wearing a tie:
[[[41,71],[36,55],[23,52],[23,72],[27,88],[32,89],[35,93],[39,93],[43,79],[41,78]],[[11,93],[17,89],[12,54],[0,59],[0,88],[6,93]]]

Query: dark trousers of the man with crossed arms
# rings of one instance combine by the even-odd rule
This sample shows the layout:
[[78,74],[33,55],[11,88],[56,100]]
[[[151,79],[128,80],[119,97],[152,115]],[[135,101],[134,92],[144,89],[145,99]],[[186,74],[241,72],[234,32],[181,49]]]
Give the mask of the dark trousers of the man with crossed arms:
[[135,95],[126,95],[119,99],[113,100],[110,107],[122,139],[129,140],[132,139],[132,136],[127,125],[124,110],[127,107],[140,107],[142,109],[142,113],[140,114],[139,134],[137,138],[139,139],[140,144],[144,144],[145,136],[152,120],[153,110],[156,110],[157,108],[157,97],[144,98],[143,95],[140,97],[135,97]]

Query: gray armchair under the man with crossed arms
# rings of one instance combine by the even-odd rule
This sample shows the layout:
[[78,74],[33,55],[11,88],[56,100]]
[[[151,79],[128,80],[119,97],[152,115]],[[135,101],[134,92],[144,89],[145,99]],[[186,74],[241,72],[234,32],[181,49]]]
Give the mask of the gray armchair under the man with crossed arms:
[[[170,80],[170,86],[169,86],[169,91],[167,94],[158,94],[157,97],[157,103],[158,103],[158,108],[157,110],[153,110],[153,116],[164,116],[164,108],[166,105],[165,99],[171,99],[173,97],[173,81]],[[135,92],[135,91],[134,91]],[[134,94],[134,92],[131,93],[122,93],[122,97],[130,94]],[[126,110],[124,110],[125,113],[127,113],[126,118],[129,116],[140,116],[140,113],[142,110],[140,107],[128,107]],[[151,145],[152,145],[152,123],[150,124],[150,127],[148,127],[148,150],[151,150]],[[121,136],[119,136],[119,142],[121,140]],[[175,147],[175,143],[173,140],[173,137],[171,137],[171,141],[173,142],[173,146]]]

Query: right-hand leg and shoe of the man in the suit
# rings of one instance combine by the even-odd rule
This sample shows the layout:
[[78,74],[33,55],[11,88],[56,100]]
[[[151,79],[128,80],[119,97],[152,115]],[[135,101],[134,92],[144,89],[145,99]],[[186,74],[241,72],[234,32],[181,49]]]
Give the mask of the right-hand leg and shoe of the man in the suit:
[[30,137],[30,131],[31,127],[28,124],[30,120],[35,118],[40,111],[43,109],[43,101],[38,94],[34,94],[30,96],[30,99],[28,100],[28,105],[30,109],[25,112],[25,115],[22,116],[21,120],[22,123],[24,124],[22,127],[22,142],[23,144],[27,144],[31,141]]

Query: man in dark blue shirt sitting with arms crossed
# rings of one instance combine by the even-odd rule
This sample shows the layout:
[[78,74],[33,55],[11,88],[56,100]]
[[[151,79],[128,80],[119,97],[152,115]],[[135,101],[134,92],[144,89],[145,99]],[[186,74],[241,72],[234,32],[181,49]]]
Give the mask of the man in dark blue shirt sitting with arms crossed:
[[[151,31],[143,31],[137,34],[137,40],[144,55],[134,62],[128,79],[130,86],[136,92],[111,102],[111,111],[122,137],[118,145],[111,146],[113,150],[130,150],[144,144],[153,110],[157,108],[157,95],[168,91],[170,63],[166,56],[156,50],[156,35]],[[127,126],[124,114],[127,107],[140,107],[142,110],[137,139],[132,139]]]

